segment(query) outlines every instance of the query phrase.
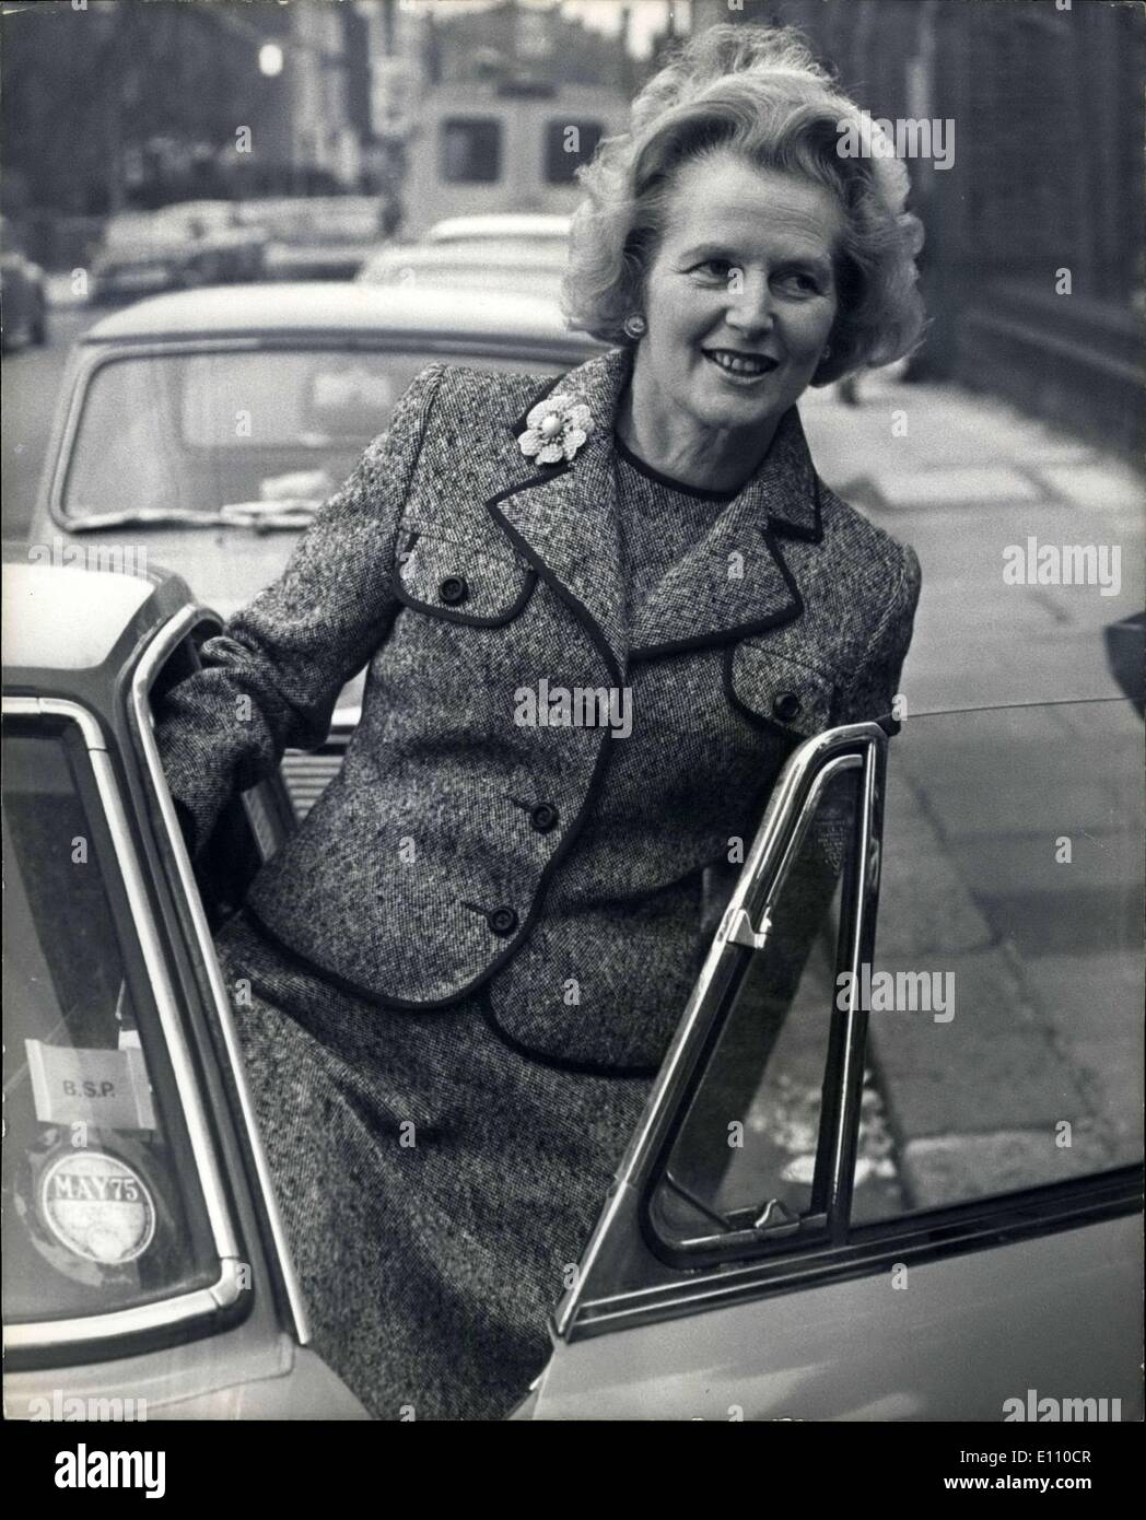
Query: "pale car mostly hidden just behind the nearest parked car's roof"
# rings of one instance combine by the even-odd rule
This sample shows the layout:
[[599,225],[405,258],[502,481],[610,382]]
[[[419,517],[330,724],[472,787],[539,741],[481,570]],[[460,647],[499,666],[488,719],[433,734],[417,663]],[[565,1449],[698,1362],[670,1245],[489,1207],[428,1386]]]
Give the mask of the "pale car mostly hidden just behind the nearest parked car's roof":
[[565,257],[567,248],[556,239],[394,243],[368,258],[357,280],[360,284],[410,284],[419,289],[517,290],[556,301]]

